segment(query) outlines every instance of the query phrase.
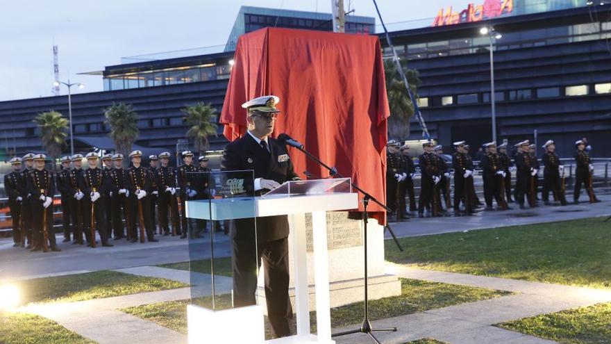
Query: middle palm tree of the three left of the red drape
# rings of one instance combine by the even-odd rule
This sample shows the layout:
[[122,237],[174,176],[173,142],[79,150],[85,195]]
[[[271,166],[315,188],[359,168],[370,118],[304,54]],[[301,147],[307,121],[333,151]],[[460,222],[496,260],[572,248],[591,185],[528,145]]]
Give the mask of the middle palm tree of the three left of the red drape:
[[[138,137],[138,114],[130,104],[112,103],[104,110],[106,123],[110,125],[108,136],[115,142],[117,152],[128,156],[131,145]],[[124,159],[128,163],[128,159]]]

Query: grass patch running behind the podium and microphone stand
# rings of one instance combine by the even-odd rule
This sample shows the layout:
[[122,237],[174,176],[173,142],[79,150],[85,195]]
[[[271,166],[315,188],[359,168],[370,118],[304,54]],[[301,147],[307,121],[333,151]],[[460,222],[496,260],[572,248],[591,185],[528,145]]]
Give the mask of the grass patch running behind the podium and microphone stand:
[[[402,295],[400,296],[385,297],[369,302],[369,317],[371,320],[392,318],[427,309],[442,308],[463,302],[475,302],[492,297],[510,295],[510,293],[505,291],[419,281],[416,279],[401,279],[401,289]],[[228,297],[221,297],[219,303],[221,307],[224,307],[230,304],[230,301],[231,299]],[[186,306],[188,303],[188,300],[160,302],[157,304],[129,307],[121,311],[186,334]],[[362,307],[362,302],[357,302],[331,309],[331,326],[336,328],[359,323],[362,317]],[[312,332],[314,332],[316,330],[315,312],[310,313],[310,322],[312,322]],[[271,338],[271,332],[267,325],[266,334],[268,338]]]

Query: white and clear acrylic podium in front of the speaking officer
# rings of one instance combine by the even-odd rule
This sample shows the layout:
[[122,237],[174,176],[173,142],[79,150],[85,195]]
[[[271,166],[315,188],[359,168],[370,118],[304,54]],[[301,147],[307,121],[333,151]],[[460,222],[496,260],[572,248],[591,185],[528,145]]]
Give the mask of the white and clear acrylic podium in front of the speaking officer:
[[[221,253],[226,252],[226,245],[231,245],[231,240],[224,238],[223,247],[223,238],[215,235],[214,226],[211,226],[210,238],[193,239],[189,245],[192,284],[196,281],[196,285],[191,286],[192,302],[187,307],[189,343],[335,343],[330,327],[326,211],[358,208],[358,194],[352,192],[351,180],[288,181],[260,197],[254,196],[252,171],[203,172],[199,174],[199,181],[206,184],[200,188],[208,190],[203,193],[207,198],[187,199],[187,218],[224,221],[312,213],[317,335],[310,334],[305,231],[292,233],[294,239],[290,247],[290,254],[294,256],[291,278],[295,286],[297,334],[265,341],[262,309],[265,305],[234,307],[233,290],[227,288],[227,278],[231,274],[224,268],[227,258]],[[257,229],[251,230],[256,235]],[[208,260],[201,260],[201,257]],[[253,261],[256,259],[253,256]],[[210,265],[206,269],[209,275],[201,273],[201,261]],[[215,266],[224,276],[215,272]]]

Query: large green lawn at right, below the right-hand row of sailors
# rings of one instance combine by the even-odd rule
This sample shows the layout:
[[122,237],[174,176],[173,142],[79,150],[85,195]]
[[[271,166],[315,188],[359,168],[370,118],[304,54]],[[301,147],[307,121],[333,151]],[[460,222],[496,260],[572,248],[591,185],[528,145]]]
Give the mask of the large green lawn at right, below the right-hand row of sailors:
[[430,270],[611,288],[611,224],[604,218],[385,241],[387,261]]

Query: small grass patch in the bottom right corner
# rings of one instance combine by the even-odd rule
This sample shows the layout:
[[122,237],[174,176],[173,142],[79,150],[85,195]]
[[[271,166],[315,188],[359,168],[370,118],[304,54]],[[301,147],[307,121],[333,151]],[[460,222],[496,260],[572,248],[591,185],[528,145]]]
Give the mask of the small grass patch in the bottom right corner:
[[567,344],[611,342],[611,303],[542,314],[496,325]]

